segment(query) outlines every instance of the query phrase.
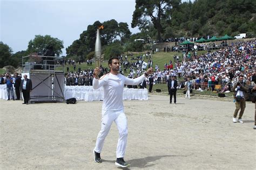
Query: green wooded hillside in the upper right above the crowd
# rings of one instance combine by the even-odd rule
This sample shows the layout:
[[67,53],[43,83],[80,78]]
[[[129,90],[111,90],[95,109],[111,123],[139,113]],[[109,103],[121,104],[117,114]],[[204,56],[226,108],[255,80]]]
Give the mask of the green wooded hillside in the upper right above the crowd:
[[[256,1],[253,0],[198,0],[184,2],[171,10],[172,19],[165,30],[173,37],[230,36],[256,32]],[[164,38],[169,38],[165,32]]]

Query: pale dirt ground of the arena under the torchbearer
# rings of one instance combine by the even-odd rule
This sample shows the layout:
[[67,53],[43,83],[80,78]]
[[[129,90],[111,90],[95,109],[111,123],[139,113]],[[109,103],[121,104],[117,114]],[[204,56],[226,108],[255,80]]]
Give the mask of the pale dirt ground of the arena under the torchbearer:
[[[246,103],[244,124],[233,123],[232,101],[150,94],[124,101],[128,119],[125,160],[130,169],[255,169],[255,105]],[[0,100],[1,169],[117,169],[115,124],[102,164],[93,161],[102,101],[40,103]],[[129,169],[127,168],[127,169]]]

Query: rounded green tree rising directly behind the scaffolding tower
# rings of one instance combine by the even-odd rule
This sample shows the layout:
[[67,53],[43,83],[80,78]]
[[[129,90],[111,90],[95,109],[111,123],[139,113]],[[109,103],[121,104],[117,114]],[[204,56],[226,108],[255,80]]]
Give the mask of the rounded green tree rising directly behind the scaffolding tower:
[[62,49],[64,48],[63,41],[49,35],[36,35],[34,39],[29,41],[28,49],[26,51],[29,53],[44,53],[46,48],[50,45],[53,46],[53,52],[55,52],[56,55],[59,56],[62,53]]

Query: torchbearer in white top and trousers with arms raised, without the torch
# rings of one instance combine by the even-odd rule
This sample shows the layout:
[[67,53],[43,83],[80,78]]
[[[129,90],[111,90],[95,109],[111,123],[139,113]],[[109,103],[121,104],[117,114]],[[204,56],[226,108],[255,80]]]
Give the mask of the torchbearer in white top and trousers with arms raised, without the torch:
[[97,163],[101,163],[100,152],[102,151],[104,140],[110,131],[111,125],[114,121],[119,131],[119,139],[117,143],[117,160],[115,164],[120,167],[127,167],[124,161],[125,148],[127,142],[127,119],[124,113],[123,105],[123,90],[124,85],[137,85],[152,73],[152,68],[147,70],[142,76],[136,79],[130,79],[122,74],[119,74],[119,59],[113,57],[109,59],[110,73],[105,74],[100,79],[98,77],[100,70],[96,68],[93,72],[93,89],[98,89],[103,86],[104,99],[102,106],[102,127],[99,131],[96,146],[93,150],[94,159]]

